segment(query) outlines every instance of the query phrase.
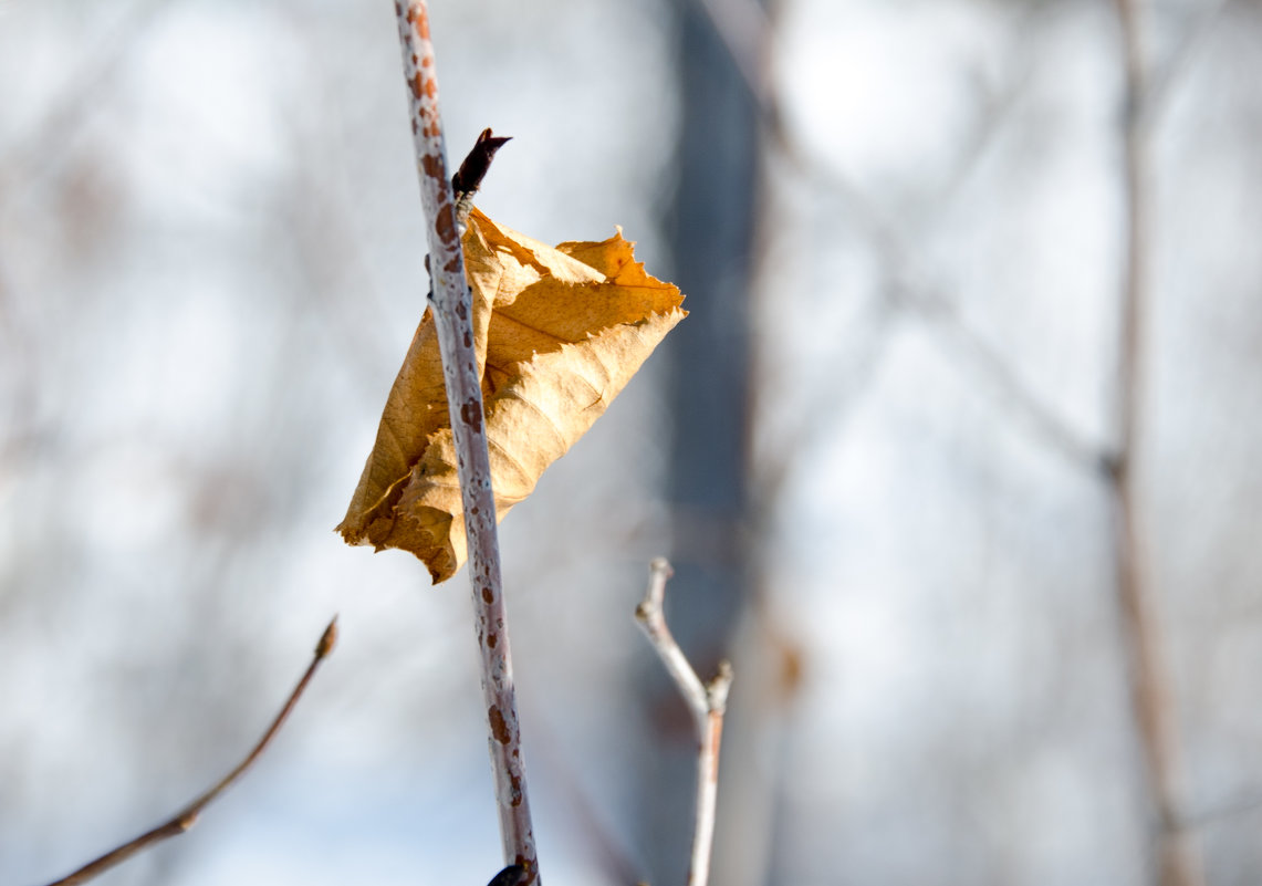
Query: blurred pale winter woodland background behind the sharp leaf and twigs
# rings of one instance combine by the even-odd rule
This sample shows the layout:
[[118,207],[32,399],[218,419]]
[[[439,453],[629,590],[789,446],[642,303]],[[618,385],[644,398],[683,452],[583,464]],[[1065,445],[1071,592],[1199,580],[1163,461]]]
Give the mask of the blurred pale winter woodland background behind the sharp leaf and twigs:
[[[501,528],[543,876],[1262,877],[1262,5],[434,3],[448,150],[692,316]],[[463,573],[346,548],[424,304],[389,3],[0,3],[0,882],[498,870]]]

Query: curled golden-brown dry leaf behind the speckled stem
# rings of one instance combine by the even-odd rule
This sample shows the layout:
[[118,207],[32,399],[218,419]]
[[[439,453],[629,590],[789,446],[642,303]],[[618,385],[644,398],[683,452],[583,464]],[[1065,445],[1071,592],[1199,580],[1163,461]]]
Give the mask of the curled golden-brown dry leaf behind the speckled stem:
[[[535,488],[688,312],[618,231],[555,249],[477,210],[463,237],[496,519]],[[464,562],[464,517],[438,337],[420,321],[337,528],[347,544],[410,550],[442,582]]]

